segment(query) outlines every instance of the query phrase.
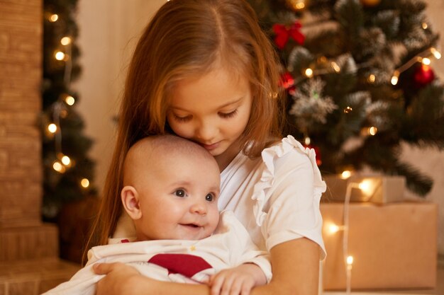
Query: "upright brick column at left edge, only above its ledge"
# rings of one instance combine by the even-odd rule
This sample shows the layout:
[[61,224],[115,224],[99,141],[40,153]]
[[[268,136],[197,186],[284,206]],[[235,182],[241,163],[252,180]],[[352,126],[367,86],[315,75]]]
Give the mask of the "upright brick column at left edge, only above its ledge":
[[40,223],[42,0],[0,0],[0,229]]

